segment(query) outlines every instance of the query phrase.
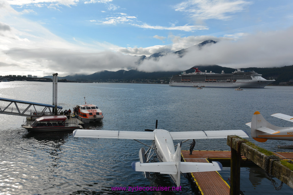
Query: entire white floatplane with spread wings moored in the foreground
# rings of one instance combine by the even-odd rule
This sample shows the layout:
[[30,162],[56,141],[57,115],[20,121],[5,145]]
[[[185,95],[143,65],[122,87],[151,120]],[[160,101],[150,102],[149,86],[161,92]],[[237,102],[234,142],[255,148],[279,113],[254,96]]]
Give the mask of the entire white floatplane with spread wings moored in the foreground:
[[[224,131],[181,131],[169,132],[164,129],[150,130],[146,132],[140,131],[107,131],[107,130],[88,130],[76,129],[73,131],[74,137],[88,138],[116,138],[116,139],[134,139],[153,140],[152,145],[148,146],[140,141],[139,143],[148,146],[149,149],[145,152],[144,148],[139,151],[140,162],[133,162],[132,168],[135,171],[144,172],[144,176],[148,172],[159,172],[161,174],[169,174],[177,187],[180,186],[180,174],[187,172],[205,172],[222,170],[222,164],[215,161],[212,163],[193,163],[181,161],[181,144],[178,143],[175,151],[173,140],[187,139],[212,139],[212,138],[227,138],[228,135],[237,135],[240,137],[249,137],[243,130],[224,130]],[[184,141],[184,142],[185,142]],[[151,154],[151,150],[154,152]],[[147,153],[149,153],[147,155]],[[151,156],[156,153],[160,162],[150,163]]]

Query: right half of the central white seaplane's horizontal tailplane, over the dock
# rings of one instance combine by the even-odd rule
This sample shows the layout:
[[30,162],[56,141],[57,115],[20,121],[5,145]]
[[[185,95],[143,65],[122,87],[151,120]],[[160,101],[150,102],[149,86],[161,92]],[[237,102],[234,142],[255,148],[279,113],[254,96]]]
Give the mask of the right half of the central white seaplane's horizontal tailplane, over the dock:
[[181,162],[181,172],[206,172],[206,171],[222,171],[223,166],[217,161],[212,163],[194,163],[194,162]]

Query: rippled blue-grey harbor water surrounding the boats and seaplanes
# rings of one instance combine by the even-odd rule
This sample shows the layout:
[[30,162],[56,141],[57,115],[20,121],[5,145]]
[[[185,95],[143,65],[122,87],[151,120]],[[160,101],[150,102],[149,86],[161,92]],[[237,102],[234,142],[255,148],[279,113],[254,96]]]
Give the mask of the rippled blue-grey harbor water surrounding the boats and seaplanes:
[[[255,111],[276,126],[292,126],[270,116],[277,112],[293,115],[292,95],[293,87],[280,86],[236,91],[158,84],[58,83],[58,105],[63,110],[84,103],[84,96],[87,103],[102,110],[103,123],[86,126],[98,130],[144,131],[154,129],[157,119],[158,128],[168,131],[243,129],[250,135],[245,123],[251,122]],[[52,104],[52,83],[1,82],[0,97]],[[73,138],[70,131],[33,134],[21,127],[25,117],[0,116],[0,194],[121,194],[111,187],[175,185],[168,175],[153,174],[149,180],[132,170],[131,163],[139,161],[138,151],[143,147],[136,141]],[[279,144],[292,143],[272,140],[257,143],[272,151],[292,152],[278,149]],[[182,149],[188,150],[188,146],[189,141]],[[226,139],[198,140],[195,149],[230,150]],[[225,180],[229,171],[227,167],[220,172]],[[180,194],[194,194],[184,177],[181,186]],[[241,168],[241,191],[242,194],[275,192],[265,173],[255,167]],[[154,194],[124,192],[130,193]],[[284,184],[276,193],[292,194],[293,189]]]

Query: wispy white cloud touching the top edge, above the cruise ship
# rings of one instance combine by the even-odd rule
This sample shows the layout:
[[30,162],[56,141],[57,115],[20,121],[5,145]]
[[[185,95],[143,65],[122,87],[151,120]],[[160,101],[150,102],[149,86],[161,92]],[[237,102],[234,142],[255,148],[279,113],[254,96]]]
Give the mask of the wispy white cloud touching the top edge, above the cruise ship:
[[187,0],[174,8],[176,11],[188,13],[194,20],[227,20],[232,17],[231,14],[244,11],[245,6],[250,4],[252,2],[243,0]]

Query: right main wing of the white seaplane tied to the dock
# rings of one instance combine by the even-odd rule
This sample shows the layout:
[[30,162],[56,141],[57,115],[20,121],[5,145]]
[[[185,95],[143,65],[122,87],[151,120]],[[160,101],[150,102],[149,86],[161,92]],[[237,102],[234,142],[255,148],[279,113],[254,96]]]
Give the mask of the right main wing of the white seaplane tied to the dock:
[[182,139],[215,139],[227,138],[228,135],[236,135],[243,138],[248,138],[248,134],[243,130],[223,130],[223,131],[182,131],[170,132],[173,140]]

